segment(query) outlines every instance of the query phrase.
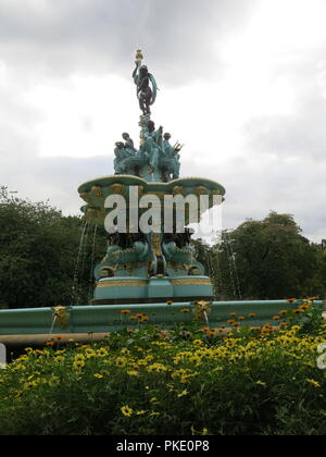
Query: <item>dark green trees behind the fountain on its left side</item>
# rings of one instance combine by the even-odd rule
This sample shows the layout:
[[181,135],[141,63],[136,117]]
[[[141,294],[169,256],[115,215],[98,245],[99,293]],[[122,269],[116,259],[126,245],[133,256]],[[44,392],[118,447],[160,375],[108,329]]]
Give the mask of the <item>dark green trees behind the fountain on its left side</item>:
[[[63,217],[47,202],[10,198],[0,190],[0,308],[87,302],[92,288],[92,236],[86,240],[73,295],[82,220]],[[91,231],[91,228],[90,228]],[[104,237],[98,231],[98,237]],[[97,243],[93,259],[103,256]]]

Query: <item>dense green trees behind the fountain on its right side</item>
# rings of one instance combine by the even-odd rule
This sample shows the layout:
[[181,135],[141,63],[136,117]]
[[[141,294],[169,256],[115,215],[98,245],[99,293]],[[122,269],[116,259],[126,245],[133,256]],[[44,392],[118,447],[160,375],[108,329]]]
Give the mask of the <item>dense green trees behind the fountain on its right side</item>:
[[204,250],[218,298],[325,296],[326,252],[302,236],[290,214],[248,220]]

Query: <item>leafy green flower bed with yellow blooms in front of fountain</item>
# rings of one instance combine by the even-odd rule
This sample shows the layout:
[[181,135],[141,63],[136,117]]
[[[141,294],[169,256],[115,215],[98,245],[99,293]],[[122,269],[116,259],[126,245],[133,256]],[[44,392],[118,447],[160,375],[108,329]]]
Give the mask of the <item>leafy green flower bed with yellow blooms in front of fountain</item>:
[[1,370],[0,433],[323,435],[325,341],[325,324],[314,336],[146,326],[102,344],[59,338]]

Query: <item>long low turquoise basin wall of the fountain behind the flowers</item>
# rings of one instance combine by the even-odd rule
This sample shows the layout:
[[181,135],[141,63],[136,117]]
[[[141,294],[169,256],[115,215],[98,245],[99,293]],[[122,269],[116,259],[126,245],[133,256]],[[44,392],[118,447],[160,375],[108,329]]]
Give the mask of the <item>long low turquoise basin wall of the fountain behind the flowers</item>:
[[[108,333],[124,328],[137,328],[137,320],[130,319],[135,313],[143,313],[148,317],[147,323],[171,329],[177,323],[197,321],[200,325],[210,328],[229,326],[227,321],[230,313],[237,312],[242,316],[241,326],[256,326],[266,322],[273,322],[276,316],[284,309],[296,309],[301,301],[289,304],[287,300],[272,301],[213,301],[208,304],[206,316],[199,316],[196,302],[167,304],[141,304],[102,305],[102,306],[76,306],[65,309],[65,320],[57,319],[55,308],[12,309],[0,311],[0,335],[37,335],[48,334],[49,339],[54,334],[80,334],[80,333]],[[324,301],[315,301],[314,306],[326,311]],[[123,310],[130,310],[128,314]],[[190,310],[185,312],[185,310]],[[249,314],[254,313],[254,318]],[[143,324],[142,324],[143,325]],[[0,337],[1,342],[1,337]]]

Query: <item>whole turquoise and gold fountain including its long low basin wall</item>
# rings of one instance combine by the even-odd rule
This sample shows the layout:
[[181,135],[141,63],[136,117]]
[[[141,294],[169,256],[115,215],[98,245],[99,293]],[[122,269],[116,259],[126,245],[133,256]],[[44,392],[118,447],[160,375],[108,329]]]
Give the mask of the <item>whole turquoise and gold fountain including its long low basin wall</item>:
[[[229,267],[231,274],[235,270],[235,297],[240,300],[214,301],[212,282],[196,260],[189,225],[221,205],[225,189],[211,180],[179,176],[183,145],[171,145],[171,134],[155,128],[151,106],[156,98],[156,82],[142,59],[142,52],[137,50],[133,78],[142,112],[139,148],[124,133],[124,141],[115,144],[115,174],[91,180],[78,188],[86,205],[82,207],[84,226],[71,304],[0,310],[0,343],[24,346],[42,345],[55,337],[102,339],[110,331],[140,322],[168,329],[197,321],[221,329],[228,325],[230,313],[241,317],[241,325],[255,326],[301,304],[242,301],[231,244]],[[93,276],[96,287],[90,304],[79,304],[76,286],[78,271],[85,265],[84,242],[91,236],[95,247],[101,224],[108,232],[105,255],[91,270],[90,283]],[[325,310],[323,301],[315,301],[315,306]]]

